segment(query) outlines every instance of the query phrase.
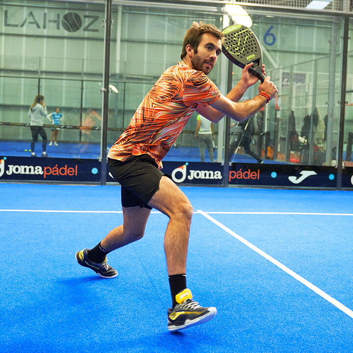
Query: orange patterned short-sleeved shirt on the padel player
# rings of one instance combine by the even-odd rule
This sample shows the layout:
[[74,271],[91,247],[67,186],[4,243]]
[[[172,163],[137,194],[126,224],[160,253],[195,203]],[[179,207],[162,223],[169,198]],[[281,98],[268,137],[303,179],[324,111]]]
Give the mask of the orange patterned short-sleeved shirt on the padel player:
[[124,161],[132,155],[149,154],[161,169],[161,160],[198,104],[206,106],[220,96],[217,86],[202,71],[177,63],[158,78],[108,157]]

